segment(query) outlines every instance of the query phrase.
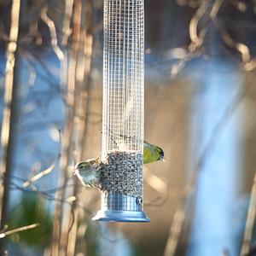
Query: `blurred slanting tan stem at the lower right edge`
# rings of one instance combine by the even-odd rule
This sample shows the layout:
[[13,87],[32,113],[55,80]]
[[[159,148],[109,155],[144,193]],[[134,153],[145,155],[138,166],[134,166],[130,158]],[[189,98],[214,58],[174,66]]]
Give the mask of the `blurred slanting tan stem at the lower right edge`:
[[250,204],[247,212],[247,222],[244,230],[243,241],[241,245],[241,256],[247,256],[250,252],[252,237],[253,237],[253,227],[256,218],[256,172],[253,178],[253,187],[250,196]]

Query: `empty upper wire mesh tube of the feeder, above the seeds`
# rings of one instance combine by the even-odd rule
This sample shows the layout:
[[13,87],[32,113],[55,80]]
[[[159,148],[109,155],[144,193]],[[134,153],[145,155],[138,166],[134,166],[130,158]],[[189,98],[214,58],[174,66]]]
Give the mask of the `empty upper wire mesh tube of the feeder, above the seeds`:
[[143,0],[104,2],[102,154],[143,153]]

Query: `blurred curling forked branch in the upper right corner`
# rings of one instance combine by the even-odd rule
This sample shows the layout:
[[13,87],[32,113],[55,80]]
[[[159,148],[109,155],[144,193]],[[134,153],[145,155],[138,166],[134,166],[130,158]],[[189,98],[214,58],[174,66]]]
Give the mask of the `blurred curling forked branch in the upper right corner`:
[[[178,1],[178,3],[179,2],[183,4],[194,3],[193,1]],[[226,44],[231,49],[236,49],[241,54],[242,68],[246,71],[252,71],[256,67],[256,59],[252,57],[249,46],[242,44],[241,42],[236,42],[236,40],[232,38],[228,32],[224,32],[224,29],[219,26],[217,15],[219,9],[224,3],[224,0],[201,0],[196,3],[200,3],[200,6],[196,10],[195,15],[192,17],[189,23],[189,37],[191,43],[189,44],[187,54],[181,57],[177,63],[172,65],[172,76],[177,75],[177,73],[179,73],[183,67],[185,67],[186,63],[195,58],[195,56],[201,55],[203,51],[202,47],[206,40],[206,34],[211,29],[209,26],[209,21],[212,21],[212,24],[219,30],[224,44]],[[230,3],[233,4],[241,12],[247,9],[246,3],[241,1],[230,1]],[[205,25],[201,26],[200,30],[199,23],[202,21],[205,22]]]

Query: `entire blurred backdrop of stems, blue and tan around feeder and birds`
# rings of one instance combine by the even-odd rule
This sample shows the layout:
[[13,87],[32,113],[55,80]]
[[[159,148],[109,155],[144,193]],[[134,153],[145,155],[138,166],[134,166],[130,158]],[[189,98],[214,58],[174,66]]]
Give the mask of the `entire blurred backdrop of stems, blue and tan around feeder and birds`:
[[102,0],[0,0],[1,255],[256,255],[256,1],[144,8],[166,161],[144,166],[150,223],[97,223],[73,166],[101,152]]

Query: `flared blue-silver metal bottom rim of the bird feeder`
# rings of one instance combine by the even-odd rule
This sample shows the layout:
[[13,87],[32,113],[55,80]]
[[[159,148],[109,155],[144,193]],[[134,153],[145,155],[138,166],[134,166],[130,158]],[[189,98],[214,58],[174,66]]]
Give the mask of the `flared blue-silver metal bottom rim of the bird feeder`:
[[111,222],[149,222],[150,218],[147,217],[145,212],[100,210],[92,220]]

